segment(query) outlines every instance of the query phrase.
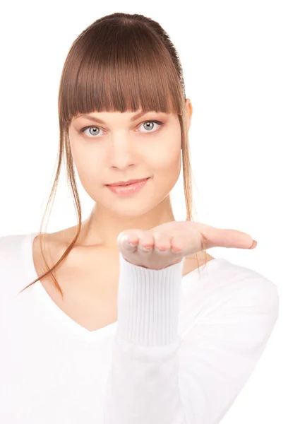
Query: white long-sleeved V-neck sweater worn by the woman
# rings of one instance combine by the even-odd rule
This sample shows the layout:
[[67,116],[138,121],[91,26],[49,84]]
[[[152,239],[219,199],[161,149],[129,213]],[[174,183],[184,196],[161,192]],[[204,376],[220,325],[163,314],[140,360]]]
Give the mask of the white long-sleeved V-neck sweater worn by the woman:
[[88,331],[39,281],[18,295],[37,234],[0,237],[0,423],[220,423],[275,326],[277,286],[224,258],[182,277],[183,260],[120,254],[118,321]]

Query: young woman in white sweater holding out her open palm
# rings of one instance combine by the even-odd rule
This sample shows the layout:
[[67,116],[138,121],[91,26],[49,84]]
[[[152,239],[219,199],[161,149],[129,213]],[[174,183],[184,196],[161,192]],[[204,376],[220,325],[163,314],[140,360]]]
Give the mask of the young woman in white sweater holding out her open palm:
[[[277,321],[277,286],[207,254],[256,243],[193,222],[191,114],[159,23],[113,13],[73,42],[49,202],[66,160],[78,224],[0,238],[1,423],[219,423],[244,387]],[[95,201],[86,220],[74,165]]]

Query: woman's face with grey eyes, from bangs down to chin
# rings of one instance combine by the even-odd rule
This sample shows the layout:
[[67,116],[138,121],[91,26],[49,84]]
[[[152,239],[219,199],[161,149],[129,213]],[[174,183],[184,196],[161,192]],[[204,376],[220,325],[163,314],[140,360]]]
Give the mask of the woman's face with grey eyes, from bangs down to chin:
[[[190,126],[192,107],[187,105]],[[135,218],[155,208],[181,171],[177,115],[148,112],[136,117],[139,112],[93,112],[74,118],[69,127],[71,152],[85,191],[97,206],[117,216]],[[150,179],[145,186],[131,196],[105,186],[146,177]]]

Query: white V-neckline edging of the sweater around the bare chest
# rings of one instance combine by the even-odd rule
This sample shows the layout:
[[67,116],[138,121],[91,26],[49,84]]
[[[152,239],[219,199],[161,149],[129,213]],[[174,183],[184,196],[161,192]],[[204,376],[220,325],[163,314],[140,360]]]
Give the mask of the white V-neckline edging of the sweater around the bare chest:
[[[23,257],[27,260],[25,260],[25,270],[26,275],[28,278],[28,284],[32,281],[36,280],[38,278],[34,261],[33,261],[33,241],[37,235],[39,235],[40,232],[30,232],[23,240]],[[209,266],[211,262],[215,261],[221,261],[225,260],[222,258],[215,258],[211,261],[208,261],[206,266]],[[184,276],[182,276],[182,281],[186,281],[188,276],[192,276],[193,273],[196,273],[198,271],[198,268],[193,269],[192,271],[186,273]],[[78,324],[74,319],[69,317],[61,308],[56,305],[54,300],[50,297],[50,295],[47,293],[47,291],[44,289],[44,286],[42,285],[41,281],[38,280],[36,283],[32,284],[30,286],[32,290],[34,291],[35,295],[37,296],[37,299],[40,300],[44,307],[47,307],[47,310],[53,314],[56,319],[59,319],[61,324],[64,324],[68,331],[71,331],[73,334],[77,334],[80,337],[83,337],[86,341],[99,341],[103,338],[107,338],[114,334],[116,331],[116,325],[118,324],[118,320],[115,322],[112,322],[111,324],[107,324],[106,326],[101,327],[100,329],[96,330],[88,330],[84,326]]]

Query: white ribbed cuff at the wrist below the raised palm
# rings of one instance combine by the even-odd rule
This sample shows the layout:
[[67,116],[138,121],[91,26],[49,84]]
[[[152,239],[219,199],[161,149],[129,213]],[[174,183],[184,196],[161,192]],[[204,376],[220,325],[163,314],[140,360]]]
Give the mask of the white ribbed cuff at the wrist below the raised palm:
[[133,265],[119,255],[117,335],[143,346],[174,343],[184,259],[155,270]]

